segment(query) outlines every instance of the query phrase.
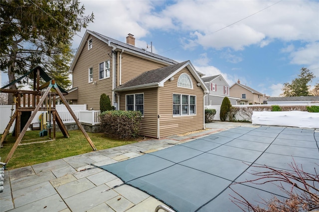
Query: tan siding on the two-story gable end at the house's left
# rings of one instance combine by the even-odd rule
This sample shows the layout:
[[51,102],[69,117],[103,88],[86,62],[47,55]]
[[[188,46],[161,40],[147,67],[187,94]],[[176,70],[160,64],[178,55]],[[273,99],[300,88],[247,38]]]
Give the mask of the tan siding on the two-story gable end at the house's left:
[[[89,36],[93,40],[93,48],[88,50],[86,42],[73,69],[73,87],[78,87],[77,104],[87,104],[87,109],[100,110],[100,96],[109,95],[112,102],[112,48],[103,41]],[[99,64],[110,60],[110,77],[99,79]],[[93,82],[89,82],[89,68],[93,68]]]

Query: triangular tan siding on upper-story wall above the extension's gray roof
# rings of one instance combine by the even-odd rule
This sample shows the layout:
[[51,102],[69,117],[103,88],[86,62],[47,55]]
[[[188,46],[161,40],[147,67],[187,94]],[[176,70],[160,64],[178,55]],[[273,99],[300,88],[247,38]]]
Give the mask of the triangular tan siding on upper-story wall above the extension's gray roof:
[[124,52],[122,54],[122,84],[145,71],[151,71],[161,67],[164,67],[164,65],[133,55],[125,54]]

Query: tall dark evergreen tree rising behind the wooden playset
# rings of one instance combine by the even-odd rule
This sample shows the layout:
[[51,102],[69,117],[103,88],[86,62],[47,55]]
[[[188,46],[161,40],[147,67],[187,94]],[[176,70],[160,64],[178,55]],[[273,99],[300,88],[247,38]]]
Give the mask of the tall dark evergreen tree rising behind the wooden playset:
[[1,0],[0,13],[0,70],[9,82],[42,66],[62,88],[70,85],[72,37],[93,21],[93,13],[84,16],[79,0]]

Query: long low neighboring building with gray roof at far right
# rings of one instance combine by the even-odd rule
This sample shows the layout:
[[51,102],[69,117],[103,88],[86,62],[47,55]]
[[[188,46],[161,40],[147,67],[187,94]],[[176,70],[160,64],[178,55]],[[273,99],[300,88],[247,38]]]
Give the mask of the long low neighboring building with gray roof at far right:
[[269,105],[319,105],[319,96],[269,97]]

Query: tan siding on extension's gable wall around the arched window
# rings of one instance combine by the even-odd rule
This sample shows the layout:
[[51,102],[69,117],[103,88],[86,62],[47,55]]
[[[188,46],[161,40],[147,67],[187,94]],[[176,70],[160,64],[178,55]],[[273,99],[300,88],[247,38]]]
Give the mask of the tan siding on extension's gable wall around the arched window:
[[[187,73],[193,83],[193,89],[177,87],[180,74]],[[160,104],[160,137],[203,129],[203,90],[187,68],[174,75],[174,80],[167,80],[164,87],[159,88]],[[173,117],[173,94],[196,96],[196,115]],[[165,103],[164,103],[165,102]]]

